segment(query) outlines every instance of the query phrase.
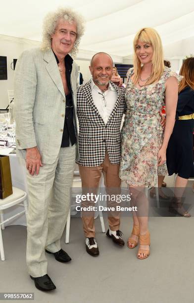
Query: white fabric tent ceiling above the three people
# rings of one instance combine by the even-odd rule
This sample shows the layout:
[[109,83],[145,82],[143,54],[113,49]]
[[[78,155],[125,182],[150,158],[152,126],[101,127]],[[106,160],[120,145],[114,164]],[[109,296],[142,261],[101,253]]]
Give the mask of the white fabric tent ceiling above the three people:
[[[40,41],[45,14],[65,5],[62,0],[4,1],[0,34]],[[193,0],[69,0],[69,6],[87,21],[80,45],[84,50],[130,55],[134,35],[142,27],[154,27],[166,47],[188,38],[194,41]],[[174,55],[180,55],[176,47]]]

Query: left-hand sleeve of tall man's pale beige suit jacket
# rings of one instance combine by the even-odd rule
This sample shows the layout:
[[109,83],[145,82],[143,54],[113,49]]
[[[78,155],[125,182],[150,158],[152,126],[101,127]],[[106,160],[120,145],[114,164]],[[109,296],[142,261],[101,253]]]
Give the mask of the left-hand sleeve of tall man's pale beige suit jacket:
[[37,146],[33,125],[36,87],[37,73],[34,59],[30,51],[25,50],[17,60],[14,80],[14,117],[16,144],[19,150]]

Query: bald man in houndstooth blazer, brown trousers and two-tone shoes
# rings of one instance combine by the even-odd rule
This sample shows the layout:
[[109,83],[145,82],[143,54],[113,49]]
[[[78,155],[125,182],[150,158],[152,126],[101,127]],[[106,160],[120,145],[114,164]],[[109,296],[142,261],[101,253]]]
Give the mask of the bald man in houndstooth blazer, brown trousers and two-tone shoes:
[[[120,194],[119,178],[121,142],[120,127],[125,111],[125,90],[110,81],[113,61],[104,52],[95,54],[91,60],[92,79],[79,87],[77,92],[77,115],[79,119],[79,164],[82,193],[97,194],[101,173],[107,193],[107,204],[116,206]],[[110,201],[109,197],[115,197]],[[91,196],[82,206],[95,206]],[[87,253],[99,254],[95,238],[94,211],[82,212]],[[118,212],[108,213],[109,229],[106,235],[114,243],[124,246],[121,237]]]

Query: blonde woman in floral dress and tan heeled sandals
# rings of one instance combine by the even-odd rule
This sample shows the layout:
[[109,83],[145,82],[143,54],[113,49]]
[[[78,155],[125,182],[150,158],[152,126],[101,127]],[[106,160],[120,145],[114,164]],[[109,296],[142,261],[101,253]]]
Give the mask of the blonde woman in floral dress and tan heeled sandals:
[[[148,201],[145,187],[156,187],[157,176],[167,175],[166,149],[171,136],[178,99],[179,76],[164,66],[162,43],[152,28],[141,29],[134,39],[134,68],[127,73],[127,113],[122,129],[120,178],[128,186],[132,203],[133,231],[128,247],[140,244],[138,258],[149,255]],[[166,127],[159,111],[166,106]]]

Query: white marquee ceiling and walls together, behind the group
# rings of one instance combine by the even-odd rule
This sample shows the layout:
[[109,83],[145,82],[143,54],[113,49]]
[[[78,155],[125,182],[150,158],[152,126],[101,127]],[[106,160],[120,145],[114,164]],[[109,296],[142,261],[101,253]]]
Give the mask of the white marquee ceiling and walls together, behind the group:
[[90,59],[97,51],[111,54],[114,63],[132,63],[133,39],[142,27],[160,34],[166,59],[178,71],[186,55],[194,53],[193,0],[7,0],[0,5],[0,56],[7,57],[7,80],[0,81],[0,108],[7,106],[13,89],[13,58],[39,45],[48,11],[69,6],[86,19],[76,62],[84,83],[91,77]]

